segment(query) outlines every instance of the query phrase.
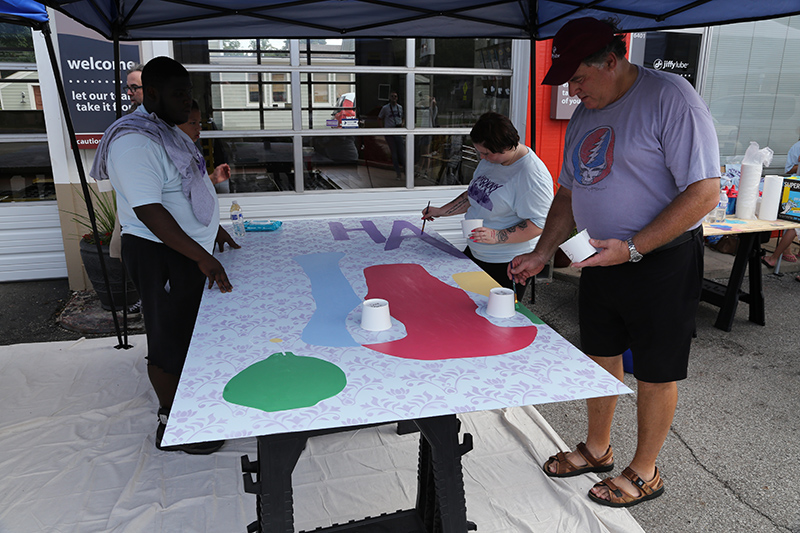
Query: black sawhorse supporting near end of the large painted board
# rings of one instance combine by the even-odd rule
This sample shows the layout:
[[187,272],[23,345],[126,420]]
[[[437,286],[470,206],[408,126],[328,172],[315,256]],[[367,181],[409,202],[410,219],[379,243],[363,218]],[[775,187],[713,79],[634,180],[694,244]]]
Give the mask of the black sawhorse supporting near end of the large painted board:
[[[414,424],[421,433],[416,507],[318,528],[316,533],[465,533],[476,529],[467,521],[461,472],[461,456],[472,449],[472,435],[465,433],[459,444],[461,423],[456,415],[422,418]],[[256,495],[257,520],[247,527],[248,533],[294,533],[292,471],[309,437],[374,425],[258,437],[258,460],[242,456],[244,490]]]

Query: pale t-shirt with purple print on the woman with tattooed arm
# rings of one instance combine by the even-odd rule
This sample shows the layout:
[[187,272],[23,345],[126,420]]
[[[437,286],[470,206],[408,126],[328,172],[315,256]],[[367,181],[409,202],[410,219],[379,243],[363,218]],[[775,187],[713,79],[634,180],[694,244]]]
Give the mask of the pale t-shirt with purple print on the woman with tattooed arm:
[[[506,229],[523,220],[544,228],[553,203],[553,178],[542,160],[528,148],[525,156],[508,166],[481,160],[467,196],[470,206],[465,218],[482,218],[486,228]],[[526,242],[500,244],[469,241],[469,248],[481,261],[507,263],[532,251],[538,240],[536,237]]]

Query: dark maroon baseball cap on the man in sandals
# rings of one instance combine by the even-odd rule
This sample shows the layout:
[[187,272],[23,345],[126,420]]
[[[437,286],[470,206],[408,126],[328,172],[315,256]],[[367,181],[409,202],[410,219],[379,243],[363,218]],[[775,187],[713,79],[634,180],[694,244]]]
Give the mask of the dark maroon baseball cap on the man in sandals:
[[553,38],[553,65],[542,85],[566,83],[584,59],[599,52],[614,40],[614,28],[592,17],[573,19]]

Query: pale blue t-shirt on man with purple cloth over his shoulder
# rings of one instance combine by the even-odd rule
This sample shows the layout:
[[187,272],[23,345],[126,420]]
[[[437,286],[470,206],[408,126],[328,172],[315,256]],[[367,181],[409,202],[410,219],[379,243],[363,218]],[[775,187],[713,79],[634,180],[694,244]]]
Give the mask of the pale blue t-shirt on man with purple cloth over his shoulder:
[[[174,126],[177,129],[177,126]],[[181,135],[185,135],[179,130]],[[114,140],[108,152],[108,175],[117,193],[117,211],[123,235],[161,242],[133,211],[134,207],[161,204],[181,229],[209,253],[219,229],[219,203],[214,203],[211,224],[204,226],[183,194],[181,176],[164,148],[144,135],[130,133]],[[216,198],[210,179],[205,180]]]

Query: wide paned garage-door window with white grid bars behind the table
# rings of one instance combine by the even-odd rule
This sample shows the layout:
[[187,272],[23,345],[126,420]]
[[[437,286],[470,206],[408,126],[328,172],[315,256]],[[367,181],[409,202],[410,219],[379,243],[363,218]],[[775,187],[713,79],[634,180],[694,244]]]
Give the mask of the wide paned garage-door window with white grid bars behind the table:
[[[510,40],[231,39],[174,49],[209,130],[209,168],[226,158],[232,192],[468,183],[477,162],[469,129],[486,111],[509,114],[513,96]],[[392,93],[402,117],[386,121]]]

